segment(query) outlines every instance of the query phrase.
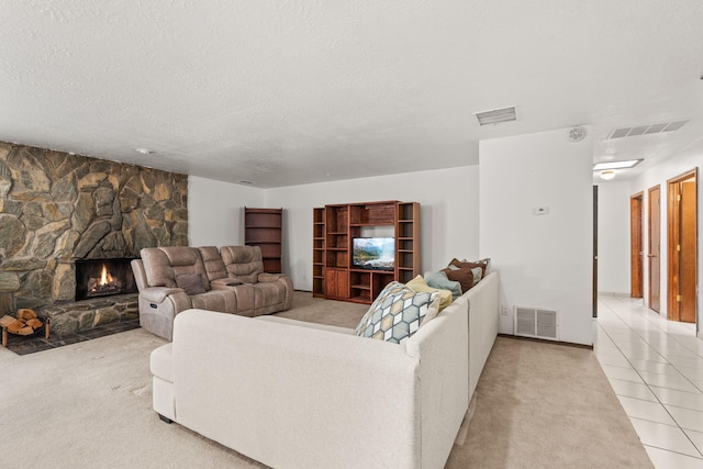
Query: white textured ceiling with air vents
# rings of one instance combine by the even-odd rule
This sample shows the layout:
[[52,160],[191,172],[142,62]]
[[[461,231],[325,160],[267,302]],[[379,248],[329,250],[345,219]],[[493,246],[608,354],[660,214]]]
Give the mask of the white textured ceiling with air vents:
[[[8,142],[261,188],[472,165],[479,139],[573,125],[595,161],[646,158],[631,175],[703,148],[701,0],[0,9]],[[517,121],[479,127],[475,112],[506,105]]]

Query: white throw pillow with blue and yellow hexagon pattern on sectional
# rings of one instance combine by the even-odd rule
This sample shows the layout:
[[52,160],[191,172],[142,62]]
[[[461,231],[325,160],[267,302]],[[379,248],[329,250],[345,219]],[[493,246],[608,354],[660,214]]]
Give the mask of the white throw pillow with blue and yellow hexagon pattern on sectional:
[[355,333],[360,337],[400,344],[420,328],[426,315],[436,315],[439,293],[415,293],[404,284],[390,282],[366,312]]

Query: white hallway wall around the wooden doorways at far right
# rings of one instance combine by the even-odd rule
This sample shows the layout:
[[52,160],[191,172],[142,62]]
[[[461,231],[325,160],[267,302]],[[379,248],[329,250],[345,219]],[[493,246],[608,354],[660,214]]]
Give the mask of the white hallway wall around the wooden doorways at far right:
[[[649,211],[649,206],[648,206],[648,200],[647,200],[647,191],[655,187],[655,186],[660,186],[661,189],[661,198],[659,201],[659,206],[661,209],[661,232],[659,234],[659,241],[660,241],[660,254],[661,254],[661,271],[660,271],[660,286],[661,286],[661,290],[660,290],[660,314],[662,317],[667,317],[667,298],[668,298],[668,286],[667,286],[667,265],[668,265],[668,253],[667,253],[667,239],[668,239],[668,233],[667,233],[667,205],[668,205],[668,201],[667,201],[667,191],[668,191],[668,186],[667,186],[667,181],[669,179],[673,179],[677,176],[680,176],[693,168],[699,168],[699,193],[698,193],[698,208],[699,208],[699,213],[698,213],[698,219],[699,219],[699,225],[698,225],[698,234],[699,234],[699,268],[698,268],[698,305],[699,305],[699,311],[698,311],[698,325],[696,325],[696,331],[699,336],[702,335],[702,321],[701,321],[701,305],[703,305],[703,288],[702,288],[702,281],[701,281],[701,277],[703,277],[703,175],[701,175],[700,172],[700,168],[701,166],[703,166],[703,142],[699,141],[699,143],[696,145],[693,145],[687,149],[684,149],[683,152],[681,152],[679,155],[676,155],[674,157],[668,158],[666,161],[651,167],[650,169],[646,170],[645,172],[643,172],[638,178],[636,178],[632,183],[631,183],[631,192],[632,193],[636,193],[639,191],[644,191],[645,192],[645,197],[644,197],[644,201],[645,201],[645,206],[644,206],[644,213],[645,213],[645,228],[644,228],[644,245],[645,248],[646,246],[648,246],[648,233],[647,233],[647,213]],[[644,275],[644,283],[645,283],[645,289],[644,289],[644,298],[645,298],[645,304],[648,305],[648,297],[649,297],[649,271],[647,270],[647,263],[645,263],[645,275]]]

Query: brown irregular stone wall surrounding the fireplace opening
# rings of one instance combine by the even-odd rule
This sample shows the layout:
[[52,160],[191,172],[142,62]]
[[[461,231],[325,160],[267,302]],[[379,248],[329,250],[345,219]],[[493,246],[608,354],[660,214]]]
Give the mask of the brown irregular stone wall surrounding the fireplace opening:
[[74,301],[76,259],[188,245],[188,176],[0,142],[0,316]]

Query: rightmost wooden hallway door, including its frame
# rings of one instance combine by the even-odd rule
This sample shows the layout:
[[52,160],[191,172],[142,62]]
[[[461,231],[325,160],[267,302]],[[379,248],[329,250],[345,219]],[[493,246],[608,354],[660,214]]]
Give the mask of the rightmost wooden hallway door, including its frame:
[[668,319],[695,323],[696,171],[668,181]]

